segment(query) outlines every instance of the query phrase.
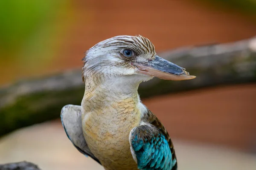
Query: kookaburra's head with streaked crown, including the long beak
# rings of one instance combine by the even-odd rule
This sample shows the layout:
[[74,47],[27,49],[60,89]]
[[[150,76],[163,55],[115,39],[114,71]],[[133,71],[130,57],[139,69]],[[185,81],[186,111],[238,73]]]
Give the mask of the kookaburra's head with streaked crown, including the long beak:
[[87,50],[83,61],[83,80],[92,75],[108,79],[129,77],[138,83],[153,77],[174,81],[195,78],[182,67],[157,56],[151,41],[140,35],[103,40]]

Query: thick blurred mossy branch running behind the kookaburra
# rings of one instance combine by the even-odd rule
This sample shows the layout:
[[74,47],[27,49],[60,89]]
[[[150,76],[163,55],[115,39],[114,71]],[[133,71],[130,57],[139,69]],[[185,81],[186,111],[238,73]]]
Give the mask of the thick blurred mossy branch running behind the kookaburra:
[[[256,81],[256,38],[234,43],[184,47],[159,53],[197,78],[164,81],[154,78],[140,85],[140,97],[218,84]],[[58,118],[66,104],[81,104],[81,69],[20,81],[0,89],[0,136],[17,128]]]

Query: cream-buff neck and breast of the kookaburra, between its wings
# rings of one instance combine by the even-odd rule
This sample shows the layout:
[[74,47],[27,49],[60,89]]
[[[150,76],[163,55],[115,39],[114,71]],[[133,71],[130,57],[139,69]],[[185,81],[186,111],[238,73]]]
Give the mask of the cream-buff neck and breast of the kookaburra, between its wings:
[[[111,167],[109,170],[119,164],[137,167],[133,165],[128,136],[140,124],[142,104],[137,92],[139,84],[131,82],[127,78],[111,80],[91,76],[85,80],[83,134],[92,153],[105,167]],[[110,157],[116,161],[109,161]]]

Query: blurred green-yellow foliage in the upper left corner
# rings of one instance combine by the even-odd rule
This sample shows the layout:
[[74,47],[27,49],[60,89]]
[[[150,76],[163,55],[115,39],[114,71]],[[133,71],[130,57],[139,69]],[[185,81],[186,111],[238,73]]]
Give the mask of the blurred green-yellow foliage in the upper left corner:
[[70,0],[0,0],[0,79],[47,72],[72,17]]

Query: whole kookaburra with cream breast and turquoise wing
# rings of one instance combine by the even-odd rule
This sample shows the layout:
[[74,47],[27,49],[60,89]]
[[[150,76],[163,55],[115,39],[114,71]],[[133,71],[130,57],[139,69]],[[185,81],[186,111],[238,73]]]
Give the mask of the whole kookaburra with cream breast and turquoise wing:
[[141,35],[119,35],[85,52],[79,105],[61,109],[67,137],[105,170],[177,170],[172,140],[160,120],[141,102],[140,83],[154,77],[195,78],[160,58]]

